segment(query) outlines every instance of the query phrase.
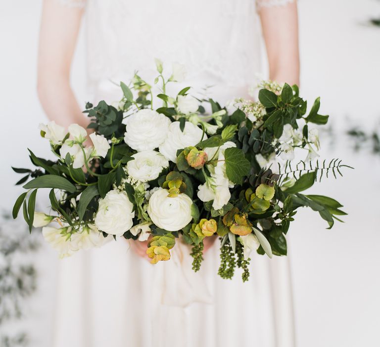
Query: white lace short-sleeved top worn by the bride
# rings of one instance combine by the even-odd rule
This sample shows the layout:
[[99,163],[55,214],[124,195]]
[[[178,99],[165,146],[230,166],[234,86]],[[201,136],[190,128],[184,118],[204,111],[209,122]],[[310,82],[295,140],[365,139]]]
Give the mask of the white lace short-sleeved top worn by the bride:
[[[187,84],[247,89],[261,67],[257,10],[293,0],[59,0],[86,6],[88,76],[95,94],[137,69],[155,75],[153,58],[188,68]],[[230,93],[230,92],[228,92]]]

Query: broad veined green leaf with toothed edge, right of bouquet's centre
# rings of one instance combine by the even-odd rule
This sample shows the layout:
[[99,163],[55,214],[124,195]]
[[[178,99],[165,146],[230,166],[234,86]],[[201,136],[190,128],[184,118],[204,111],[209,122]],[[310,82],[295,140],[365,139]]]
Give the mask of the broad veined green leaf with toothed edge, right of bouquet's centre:
[[227,177],[236,184],[242,184],[243,177],[247,176],[251,170],[251,165],[244,153],[241,149],[232,147],[225,150],[224,157]]

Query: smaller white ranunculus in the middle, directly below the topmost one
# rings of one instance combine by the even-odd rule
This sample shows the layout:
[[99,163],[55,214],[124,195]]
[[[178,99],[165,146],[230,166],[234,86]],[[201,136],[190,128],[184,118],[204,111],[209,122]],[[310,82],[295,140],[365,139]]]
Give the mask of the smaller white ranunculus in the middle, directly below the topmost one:
[[162,169],[169,166],[168,160],[156,151],[139,152],[132,158],[134,159],[127,163],[127,172],[141,182],[156,179]]

